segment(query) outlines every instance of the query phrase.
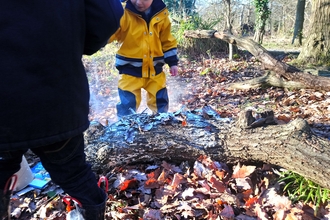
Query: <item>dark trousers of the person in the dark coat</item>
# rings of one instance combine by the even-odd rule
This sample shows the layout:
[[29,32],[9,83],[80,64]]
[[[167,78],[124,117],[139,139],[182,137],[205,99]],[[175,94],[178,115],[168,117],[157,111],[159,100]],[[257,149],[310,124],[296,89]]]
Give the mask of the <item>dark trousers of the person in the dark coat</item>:
[[[52,181],[83,206],[95,206],[104,202],[105,194],[97,186],[97,179],[86,163],[82,134],[31,150],[39,156]],[[22,155],[26,151],[0,151],[0,189],[20,169]]]

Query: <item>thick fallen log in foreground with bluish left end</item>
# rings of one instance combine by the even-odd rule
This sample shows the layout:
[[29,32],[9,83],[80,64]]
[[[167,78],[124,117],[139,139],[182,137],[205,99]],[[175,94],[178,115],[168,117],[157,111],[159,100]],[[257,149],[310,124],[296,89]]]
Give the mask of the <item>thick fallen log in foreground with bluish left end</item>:
[[[87,160],[94,170],[120,164],[194,162],[200,155],[227,164],[273,164],[330,188],[330,141],[296,119],[273,125],[272,114],[256,120],[243,112],[237,121],[212,109],[156,115],[135,114],[86,131]],[[261,127],[260,127],[261,126]]]

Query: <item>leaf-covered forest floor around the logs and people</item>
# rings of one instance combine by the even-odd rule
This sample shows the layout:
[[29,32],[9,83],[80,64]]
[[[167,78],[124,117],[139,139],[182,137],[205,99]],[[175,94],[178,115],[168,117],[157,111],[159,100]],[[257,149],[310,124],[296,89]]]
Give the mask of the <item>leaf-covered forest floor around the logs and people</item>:
[[[290,62],[296,52],[277,50],[275,56]],[[118,75],[109,64],[103,68],[95,66],[94,61],[84,61],[90,80],[90,120],[107,126],[117,121]],[[168,75],[169,110],[174,112],[183,107],[194,110],[208,105],[223,118],[236,118],[246,108],[256,112],[273,110],[278,123],[300,117],[316,135],[330,140],[330,92],[275,87],[244,91],[227,88],[230,83],[264,73],[260,62],[246,52],[232,61],[226,53],[182,57],[179,76]],[[150,112],[145,99],[137,112]],[[31,166],[38,162],[31,155],[27,159]],[[273,166],[237,164],[232,169],[223,161],[204,156],[196,158],[190,169],[184,168],[184,161],[180,165],[163,161],[162,164],[113,167],[103,173],[109,180],[106,219],[330,219],[330,201],[318,209],[313,202],[291,202],[289,196],[279,190],[283,189],[276,182],[280,170]],[[43,190],[16,195],[12,199],[16,204],[12,210],[20,207],[22,212],[12,218],[65,219],[67,211],[59,199],[62,196],[63,192],[52,182]]]

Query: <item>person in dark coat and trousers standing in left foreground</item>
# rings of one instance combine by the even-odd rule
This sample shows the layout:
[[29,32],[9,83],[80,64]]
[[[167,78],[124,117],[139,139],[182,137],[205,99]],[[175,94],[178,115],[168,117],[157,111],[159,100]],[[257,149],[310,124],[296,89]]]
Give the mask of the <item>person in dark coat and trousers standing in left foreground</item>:
[[28,149],[80,201],[85,219],[104,219],[107,196],[84,153],[89,86],[82,55],[107,43],[122,14],[119,0],[1,1],[1,219],[8,182]]

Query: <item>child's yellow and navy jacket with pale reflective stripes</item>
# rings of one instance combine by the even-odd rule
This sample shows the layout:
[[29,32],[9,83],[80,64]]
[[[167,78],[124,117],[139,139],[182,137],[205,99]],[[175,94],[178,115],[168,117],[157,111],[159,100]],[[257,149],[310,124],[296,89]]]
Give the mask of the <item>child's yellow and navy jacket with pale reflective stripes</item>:
[[177,65],[177,41],[164,2],[154,0],[147,14],[137,11],[130,0],[124,7],[120,28],[109,40],[120,44],[116,54],[119,73],[152,78],[163,71],[165,63]]

